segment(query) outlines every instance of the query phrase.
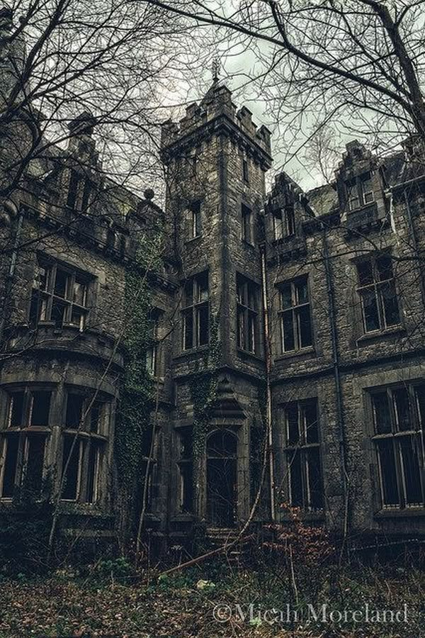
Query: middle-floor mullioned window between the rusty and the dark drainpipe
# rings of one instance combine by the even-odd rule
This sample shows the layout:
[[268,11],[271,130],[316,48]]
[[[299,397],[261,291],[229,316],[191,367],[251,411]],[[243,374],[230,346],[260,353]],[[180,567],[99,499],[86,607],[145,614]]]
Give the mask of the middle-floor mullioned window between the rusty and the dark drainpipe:
[[312,320],[307,276],[280,286],[281,352],[312,345]]

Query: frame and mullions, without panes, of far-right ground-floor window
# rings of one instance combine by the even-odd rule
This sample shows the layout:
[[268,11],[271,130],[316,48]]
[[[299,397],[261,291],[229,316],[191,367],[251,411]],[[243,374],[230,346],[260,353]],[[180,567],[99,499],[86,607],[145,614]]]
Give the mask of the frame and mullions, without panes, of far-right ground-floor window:
[[[418,510],[425,508],[425,476],[424,476],[424,459],[425,459],[425,401],[423,405],[424,413],[421,413],[419,407],[419,391],[425,392],[425,381],[409,381],[407,384],[392,384],[390,386],[378,386],[370,388],[367,391],[368,411],[370,413],[370,440],[373,447],[374,464],[378,473],[378,489],[380,511],[402,511]],[[407,393],[407,410],[409,413],[409,429],[400,427],[399,408],[397,407],[397,399],[395,393],[405,391]],[[390,429],[386,432],[380,432],[377,421],[375,396],[385,396],[386,413],[389,418]],[[417,460],[417,473],[419,475],[419,489],[421,491],[421,502],[409,503],[409,495],[407,488],[407,473],[405,472],[403,461],[403,442],[411,444]],[[398,503],[385,503],[385,489],[388,477],[385,477],[386,471],[383,468],[380,450],[384,450],[384,446],[389,444],[391,448],[392,462],[394,464],[395,476],[390,477],[390,481],[397,489]],[[413,443],[413,444],[412,444]],[[412,467],[409,467],[412,471]]]

